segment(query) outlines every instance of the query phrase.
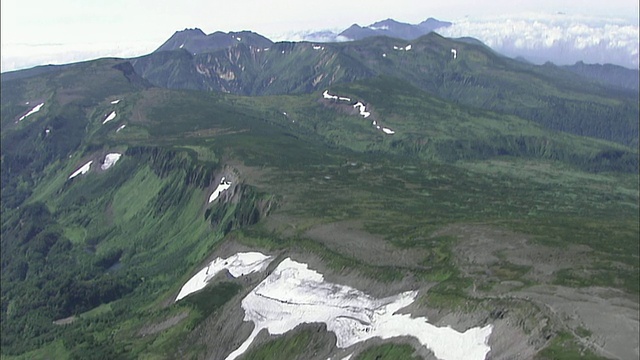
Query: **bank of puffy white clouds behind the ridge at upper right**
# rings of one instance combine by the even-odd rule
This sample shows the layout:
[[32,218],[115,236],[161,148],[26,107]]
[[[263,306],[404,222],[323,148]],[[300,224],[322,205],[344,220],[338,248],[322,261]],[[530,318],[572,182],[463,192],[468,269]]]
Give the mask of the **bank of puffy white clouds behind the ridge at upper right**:
[[621,19],[565,14],[465,18],[438,32],[474,37],[500,53],[536,63],[584,61],[638,68],[638,25]]

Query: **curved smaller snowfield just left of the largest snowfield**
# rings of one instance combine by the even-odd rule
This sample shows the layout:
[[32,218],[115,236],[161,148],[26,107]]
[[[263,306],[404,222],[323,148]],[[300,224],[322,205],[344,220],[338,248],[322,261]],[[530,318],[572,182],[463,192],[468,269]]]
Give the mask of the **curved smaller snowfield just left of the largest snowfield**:
[[263,255],[259,252],[237,253],[226,259],[217,258],[182,286],[175,301],[198,290],[202,290],[217,273],[224,269],[229,270],[229,273],[233,277],[239,277],[263,271],[269,266],[271,260],[271,256]]

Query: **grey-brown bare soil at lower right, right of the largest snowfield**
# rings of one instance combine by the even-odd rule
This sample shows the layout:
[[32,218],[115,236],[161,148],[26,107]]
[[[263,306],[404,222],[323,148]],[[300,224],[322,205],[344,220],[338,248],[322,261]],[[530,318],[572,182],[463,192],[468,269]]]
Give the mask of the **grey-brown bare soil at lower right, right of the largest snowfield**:
[[[556,330],[573,333],[583,345],[602,356],[613,359],[638,359],[640,356],[640,306],[620,290],[552,285],[524,287],[522,281],[501,281],[491,270],[505,263],[526,266],[529,269],[522,276],[523,281],[549,284],[558,270],[588,265],[592,261],[589,247],[570,245],[559,249],[544,246],[531,242],[522,234],[485,225],[455,225],[438,234],[458,237],[454,252],[459,268],[474,279],[474,286],[469,291],[471,296],[530,302],[546,313]],[[478,290],[487,282],[498,285],[489,292]],[[581,337],[579,328],[588,330],[591,335]],[[514,335],[510,333],[509,337]]]

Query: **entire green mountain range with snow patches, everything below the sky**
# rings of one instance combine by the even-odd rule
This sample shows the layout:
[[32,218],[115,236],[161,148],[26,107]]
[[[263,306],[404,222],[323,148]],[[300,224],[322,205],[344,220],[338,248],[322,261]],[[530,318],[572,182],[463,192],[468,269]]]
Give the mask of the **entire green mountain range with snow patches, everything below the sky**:
[[3,359],[633,358],[637,72],[405,25],[3,73]]

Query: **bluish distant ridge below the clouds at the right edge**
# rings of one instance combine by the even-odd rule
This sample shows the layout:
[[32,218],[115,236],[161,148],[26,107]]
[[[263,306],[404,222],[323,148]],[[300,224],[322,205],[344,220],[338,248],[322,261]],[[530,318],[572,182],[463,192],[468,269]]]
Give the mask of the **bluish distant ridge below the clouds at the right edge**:
[[638,83],[640,83],[640,75],[637,69],[632,70],[612,64],[585,64],[582,61],[574,65],[562,66],[562,68],[602,84],[634,90],[636,92],[639,90]]

